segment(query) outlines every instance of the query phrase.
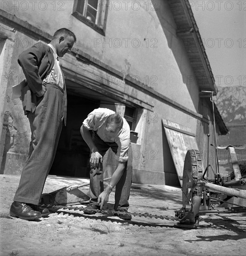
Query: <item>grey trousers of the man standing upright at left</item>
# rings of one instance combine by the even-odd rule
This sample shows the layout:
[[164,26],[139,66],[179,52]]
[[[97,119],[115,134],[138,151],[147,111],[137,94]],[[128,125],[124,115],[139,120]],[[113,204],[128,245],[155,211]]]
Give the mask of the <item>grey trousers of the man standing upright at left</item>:
[[35,111],[27,116],[32,137],[28,159],[13,199],[17,202],[39,204],[55,157],[62,129],[64,91],[53,84],[47,84],[46,89]]

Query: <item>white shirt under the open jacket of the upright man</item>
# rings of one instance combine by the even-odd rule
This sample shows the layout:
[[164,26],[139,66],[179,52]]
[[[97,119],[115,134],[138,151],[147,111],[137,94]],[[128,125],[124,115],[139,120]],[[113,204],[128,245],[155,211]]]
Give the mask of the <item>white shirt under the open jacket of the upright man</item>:
[[43,85],[47,83],[53,83],[60,86],[60,88],[64,89],[64,82],[63,82],[63,77],[60,69],[60,62],[59,62],[58,55],[52,44],[47,44],[47,46],[49,46],[53,50],[53,56],[54,56],[55,62],[50,73],[44,79]]

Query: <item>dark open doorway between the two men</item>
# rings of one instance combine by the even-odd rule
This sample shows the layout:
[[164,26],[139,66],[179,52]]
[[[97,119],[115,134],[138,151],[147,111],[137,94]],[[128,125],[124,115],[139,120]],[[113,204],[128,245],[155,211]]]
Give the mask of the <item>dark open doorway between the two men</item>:
[[89,177],[90,149],[80,135],[80,127],[87,115],[99,107],[98,100],[67,95],[66,126],[61,131],[50,175]]

